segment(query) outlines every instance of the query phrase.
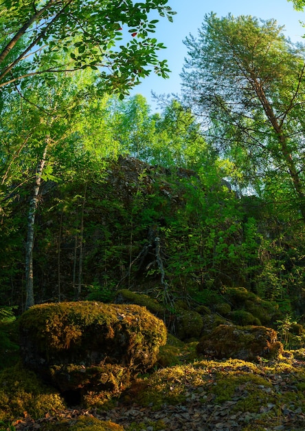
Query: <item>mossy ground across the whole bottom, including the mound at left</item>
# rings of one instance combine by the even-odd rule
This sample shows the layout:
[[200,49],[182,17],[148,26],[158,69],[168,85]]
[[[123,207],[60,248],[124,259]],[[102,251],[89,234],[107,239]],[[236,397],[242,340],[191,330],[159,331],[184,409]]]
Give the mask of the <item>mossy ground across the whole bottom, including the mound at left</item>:
[[[0,374],[0,430],[304,430],[305,350],[258,364],[195,358],[173,337],[172,364],[156,366],[113,399],[67,407],[20,364]],[[176,346],[174,346],[176,344]]]

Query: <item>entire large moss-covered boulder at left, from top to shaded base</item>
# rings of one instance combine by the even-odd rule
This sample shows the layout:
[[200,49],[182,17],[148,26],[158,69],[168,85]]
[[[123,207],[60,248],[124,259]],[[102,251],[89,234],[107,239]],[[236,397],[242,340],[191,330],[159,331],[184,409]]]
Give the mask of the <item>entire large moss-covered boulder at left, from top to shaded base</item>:
[[98,302],[34,306],[20,334],[25,366],[61,392],[117,390],[154,366],[167,336],[144,307]]

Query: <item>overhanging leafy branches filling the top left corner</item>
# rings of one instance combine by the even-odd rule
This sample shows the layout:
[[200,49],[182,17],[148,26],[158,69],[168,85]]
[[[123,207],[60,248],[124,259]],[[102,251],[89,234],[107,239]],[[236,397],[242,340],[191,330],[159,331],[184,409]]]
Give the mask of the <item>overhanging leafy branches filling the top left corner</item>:
[[[150,37],[157,11],[172,21],[168,0],[1,0],[0,87],[36,74],[98,70],[103,87],[126,93],[154,70],[168,76]],[[122,41],[122,42],[121,42]],[[65,55],[63,56],[63,52]]]

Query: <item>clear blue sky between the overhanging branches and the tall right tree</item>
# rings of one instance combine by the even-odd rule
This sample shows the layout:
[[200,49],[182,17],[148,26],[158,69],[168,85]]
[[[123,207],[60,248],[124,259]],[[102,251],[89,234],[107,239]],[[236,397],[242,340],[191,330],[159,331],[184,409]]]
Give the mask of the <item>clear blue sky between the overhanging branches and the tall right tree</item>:
[[[159,51],[161,59],[168,59],[172,70],[169,79],[163,79],[155,74],[148,76],[135,87],[131,94],[143,94],[148,103],[156,109],[151,92],[156,94],[179,94],[180,78],[183,59],[186,56],[186,47],[183,39],[188,34],[196,36],[201,27],[205,14],[215,12],[219,17],[225,17],[229,12],[235,17],[238,15],[252,15],[261,19],[276,19],[279,25],[285,26],[285,34],[293,42],[304,41],[302,35],[305,28],[300,21],[305,21],[305,13],[293,9],[293,3],[287,0],[169,0],[168,6],[177,12],[174,22],[160,19],[157,23],[155,37],[166,45],[166,50]],[[153,18],[152,18],[153,19]]]

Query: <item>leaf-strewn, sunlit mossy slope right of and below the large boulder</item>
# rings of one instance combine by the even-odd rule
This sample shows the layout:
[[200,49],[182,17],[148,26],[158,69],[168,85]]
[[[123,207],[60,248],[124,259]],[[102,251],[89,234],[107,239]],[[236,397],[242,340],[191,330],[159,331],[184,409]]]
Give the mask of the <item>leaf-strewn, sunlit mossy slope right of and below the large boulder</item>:
[[[304,349],[302,349],[304,350]],[[47,414],[14,422],[16,430],[45,430],[47,423],[89,416],[128,431],[305,430],[304,355],[254,364],[203,359],[141,377],[102,409]]]

